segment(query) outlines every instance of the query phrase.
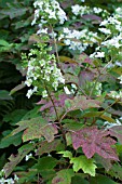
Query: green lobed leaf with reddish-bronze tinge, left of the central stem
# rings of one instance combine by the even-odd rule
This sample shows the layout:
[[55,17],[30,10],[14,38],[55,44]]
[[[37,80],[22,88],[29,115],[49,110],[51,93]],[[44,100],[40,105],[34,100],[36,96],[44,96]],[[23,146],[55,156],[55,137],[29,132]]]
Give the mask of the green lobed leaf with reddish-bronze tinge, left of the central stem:
[[12,135],[24,130],[23,141],[30,141],[44,136],[48,142],[54,140],[54,135],[58,133],[57,128],[53,123],[49,123],[42,117],[23,120],[17,123],[19,127],[12,132]]

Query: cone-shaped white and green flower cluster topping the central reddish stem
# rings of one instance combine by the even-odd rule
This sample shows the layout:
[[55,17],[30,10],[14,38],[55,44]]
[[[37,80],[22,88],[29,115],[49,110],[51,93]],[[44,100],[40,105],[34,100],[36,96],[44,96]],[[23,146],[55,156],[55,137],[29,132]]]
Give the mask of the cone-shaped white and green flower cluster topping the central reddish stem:
[[[45,44],[44,44],[45,45]],[[56,91],[59,83],[65,83],[65,79],[53,54],[49,54],[44,45],[40,50],[30,50],[27,60],[27,75],[25,84],[33,86],[29,89],[26,96],[29,98],[35,92],[41,92],[42,96],[48,96],[45,84],[53,87]],[[51,50],[51,48],[49,49]],[[36,57],[37,56],[37,57]],[[41,84],[41,87],[40,87]]]

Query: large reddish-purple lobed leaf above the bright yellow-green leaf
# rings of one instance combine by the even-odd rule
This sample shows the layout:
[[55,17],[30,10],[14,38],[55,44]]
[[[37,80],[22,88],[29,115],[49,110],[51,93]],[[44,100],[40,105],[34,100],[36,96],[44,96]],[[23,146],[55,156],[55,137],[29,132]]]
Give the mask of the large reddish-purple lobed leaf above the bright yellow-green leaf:
[[114,148],[111,147],[116,144],[116,141],[109,134],[109,131],[98,130],[96,127],[74,131],[71,133],[73,148],[82,147],[87,158],[98,154],[106,159],[119,160]]

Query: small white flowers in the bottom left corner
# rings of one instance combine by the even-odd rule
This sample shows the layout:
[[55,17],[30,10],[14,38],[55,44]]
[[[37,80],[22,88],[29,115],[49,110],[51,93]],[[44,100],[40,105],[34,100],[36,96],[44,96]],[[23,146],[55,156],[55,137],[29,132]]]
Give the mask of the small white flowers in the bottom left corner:
[[14,174],[14,179],[4,179],[4,170],[0,171],[0,184],[15,184],[18,183],[18,176]]

